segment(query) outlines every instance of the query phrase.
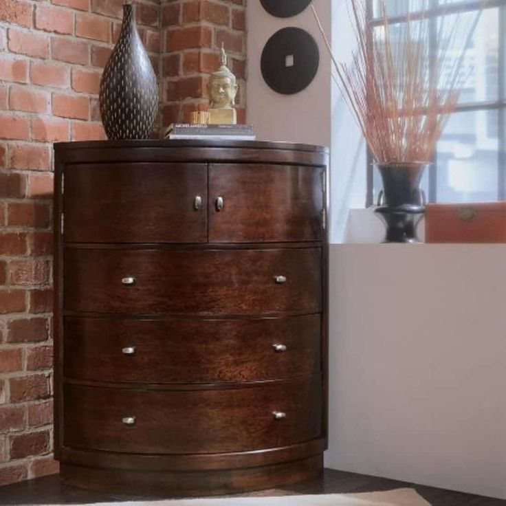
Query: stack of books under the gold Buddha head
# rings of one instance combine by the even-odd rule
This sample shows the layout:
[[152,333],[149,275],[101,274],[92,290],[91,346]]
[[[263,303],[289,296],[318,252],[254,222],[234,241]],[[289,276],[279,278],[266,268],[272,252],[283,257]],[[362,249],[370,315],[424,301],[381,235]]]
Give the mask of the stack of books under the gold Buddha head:
[[189,124],[173,123],[165,134],[166,139],[255,140],[256,133],[250,124]]

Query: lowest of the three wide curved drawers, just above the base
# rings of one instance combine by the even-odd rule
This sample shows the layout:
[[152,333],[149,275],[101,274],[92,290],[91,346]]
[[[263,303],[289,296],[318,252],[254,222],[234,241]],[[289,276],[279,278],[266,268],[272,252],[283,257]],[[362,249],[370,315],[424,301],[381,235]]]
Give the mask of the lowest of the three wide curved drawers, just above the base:
[[314,378],[200,391],[67,385],[64,442],[144,454],[277,448],[320,435],[321,399]]

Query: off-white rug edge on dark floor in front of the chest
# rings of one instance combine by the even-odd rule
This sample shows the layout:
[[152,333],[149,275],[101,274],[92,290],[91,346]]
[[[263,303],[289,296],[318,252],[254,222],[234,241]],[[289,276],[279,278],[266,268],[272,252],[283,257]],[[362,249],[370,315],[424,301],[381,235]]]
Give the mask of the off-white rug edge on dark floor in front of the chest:
[[[57,505],[54,505],[57,506]],[[83,505],[91,506],[91,505]],[[100,506],[430,506],[415,490],[403,488],[371,494],[284,497],[236,497],[100,503]]]

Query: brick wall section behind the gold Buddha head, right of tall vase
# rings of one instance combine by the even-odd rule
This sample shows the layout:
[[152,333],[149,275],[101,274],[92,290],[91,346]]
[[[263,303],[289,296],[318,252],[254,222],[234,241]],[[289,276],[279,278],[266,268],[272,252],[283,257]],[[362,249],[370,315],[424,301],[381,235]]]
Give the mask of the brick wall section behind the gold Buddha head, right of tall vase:
[[225,45],[238,78],[237,113],[245,122],[246,0],[169,0],[162,5],[162,127],[208,107],[207,76]]

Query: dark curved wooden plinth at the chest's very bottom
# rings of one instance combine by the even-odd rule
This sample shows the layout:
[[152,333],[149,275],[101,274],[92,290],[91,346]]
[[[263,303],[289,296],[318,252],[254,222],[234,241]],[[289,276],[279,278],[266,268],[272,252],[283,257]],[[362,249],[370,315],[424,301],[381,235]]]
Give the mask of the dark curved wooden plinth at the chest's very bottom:
[[323,472],[323,455],[247,469],[210,471],[129,471],[61,463],[63,483],[115,494],[151,497],[215,496],[292,485]]

